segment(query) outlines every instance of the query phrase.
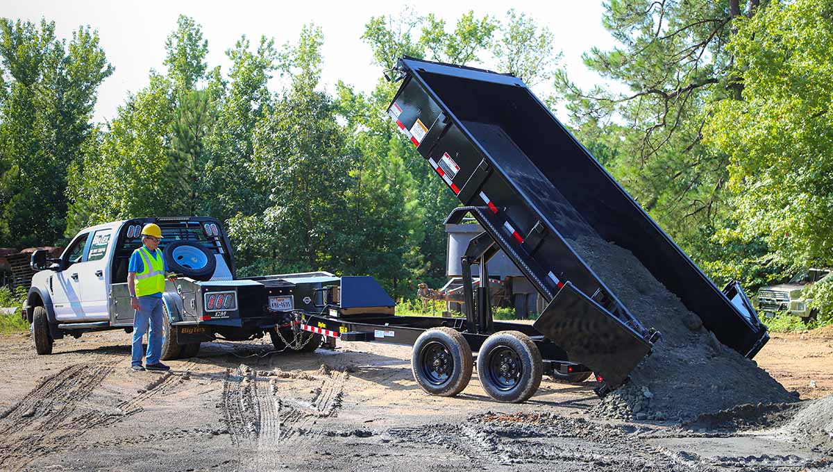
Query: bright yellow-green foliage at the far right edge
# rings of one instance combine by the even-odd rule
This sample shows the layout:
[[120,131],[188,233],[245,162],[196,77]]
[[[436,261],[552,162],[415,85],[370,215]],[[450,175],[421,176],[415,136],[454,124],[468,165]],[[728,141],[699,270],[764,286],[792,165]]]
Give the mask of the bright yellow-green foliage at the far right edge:
[[773,2],[736,27],[742,92],[705,130],[731,158],[736,231],[784,263],[833,265],[833,2]]

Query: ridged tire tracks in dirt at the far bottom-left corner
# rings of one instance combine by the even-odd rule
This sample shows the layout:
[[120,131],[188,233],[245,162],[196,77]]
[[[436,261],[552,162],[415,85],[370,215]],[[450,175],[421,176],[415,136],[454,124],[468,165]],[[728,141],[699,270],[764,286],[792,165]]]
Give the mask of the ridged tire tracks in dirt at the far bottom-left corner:
[[78,405],[102,384],[115,363],[69,365],[41,380],[4,412],[0,420],[0,470],[23,469],[37,457],[71,445],[81,426],[72,418]]

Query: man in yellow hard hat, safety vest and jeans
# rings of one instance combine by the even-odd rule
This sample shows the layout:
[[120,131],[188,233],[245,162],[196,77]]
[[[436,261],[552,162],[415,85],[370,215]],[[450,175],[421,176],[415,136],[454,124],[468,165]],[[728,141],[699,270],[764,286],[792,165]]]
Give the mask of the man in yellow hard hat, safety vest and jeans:
[[[132,370],[169,370],[162,364],[162,292],[165,291],[167,262],[159,241],[162,230],[155,223],[142,228],[142,246],[133,251],[127,266],[127,290],[130,291],[130,305],[136,311],[133,318]],[[170,276],[170,280],[176,280]],[[142,338],[150,325],[147,335],[147,364],[142,367]]]

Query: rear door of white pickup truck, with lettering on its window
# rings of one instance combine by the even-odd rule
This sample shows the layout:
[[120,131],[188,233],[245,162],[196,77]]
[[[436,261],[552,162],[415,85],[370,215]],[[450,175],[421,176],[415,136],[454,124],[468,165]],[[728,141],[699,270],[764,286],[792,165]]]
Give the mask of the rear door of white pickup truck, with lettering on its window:
[[111,251],[112,228],[92,232],[87,241],[86,256],[77,264],[78,281],[81,285],[81,308],[84,320],[102,321],[110,319],[107,301],[107,280],[110,276],[108,257]]

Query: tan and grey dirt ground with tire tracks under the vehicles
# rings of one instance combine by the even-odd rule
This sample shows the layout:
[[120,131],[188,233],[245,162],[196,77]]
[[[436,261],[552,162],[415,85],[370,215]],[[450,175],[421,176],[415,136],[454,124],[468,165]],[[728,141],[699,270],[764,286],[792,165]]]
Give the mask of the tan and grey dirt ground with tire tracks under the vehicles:
[[[523,405],[473,375],[456,398],[413,380],[407,346],[340,342],[268,354],[203,345],[172,371],[132,372],[122,331],[37,356],[0,336],[0,470],[827,470],[778,429],[596,420],[593,383],[545,379]],[[756,360],[802,399],[833,393],[833,333],[773,335]],[[811,382],[813,382],[811,384]],[[815,385],[815,386],[811,386]],[[692,392],[696,395],[696,392]]]

